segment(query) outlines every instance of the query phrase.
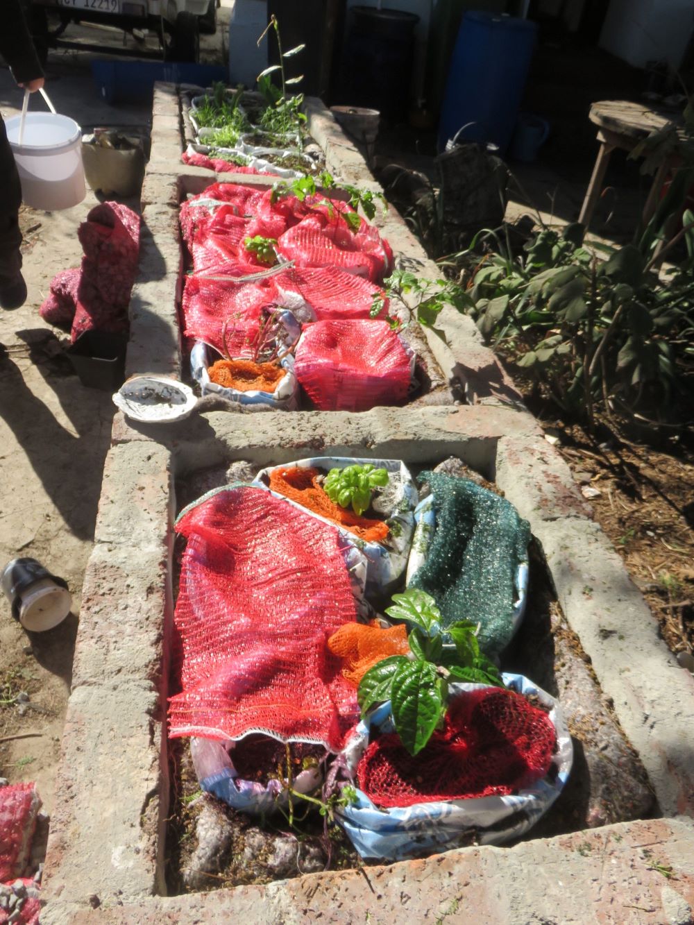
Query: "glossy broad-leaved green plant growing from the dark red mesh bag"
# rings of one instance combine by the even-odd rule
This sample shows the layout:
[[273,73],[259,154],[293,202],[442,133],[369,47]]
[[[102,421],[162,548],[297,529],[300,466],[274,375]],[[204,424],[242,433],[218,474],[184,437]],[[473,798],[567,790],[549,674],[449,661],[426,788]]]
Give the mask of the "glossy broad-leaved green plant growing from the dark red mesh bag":
[[[362,678],[357,698],[362,715],[390,700],[395,731],[403,746],[416,755],[443,721],[450,682],[500,687],[503,682],[494,663],[479,649],[475,623],[459,620],[443,631],[434,598],[416,588],[392,599],[386,613],[412,626],[408,638],[414,659],[393,655],[379,661]],[[444,639],[450,639],[452,647],[444,647]]]

